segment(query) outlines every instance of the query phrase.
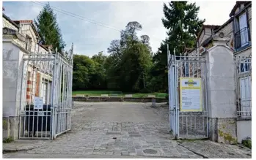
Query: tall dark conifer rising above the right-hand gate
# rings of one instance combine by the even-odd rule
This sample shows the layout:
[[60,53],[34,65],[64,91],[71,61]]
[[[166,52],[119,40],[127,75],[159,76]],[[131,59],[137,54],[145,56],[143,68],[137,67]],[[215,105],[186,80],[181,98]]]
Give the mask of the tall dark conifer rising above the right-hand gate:
[[185,47],[196,47],[197,34],[205,20],[200,20],[197,15],[200,7],[187,1],[171,1],[164,3],[164,16],[162,22],[168,29],[168,44],[170,50],[182,53]]

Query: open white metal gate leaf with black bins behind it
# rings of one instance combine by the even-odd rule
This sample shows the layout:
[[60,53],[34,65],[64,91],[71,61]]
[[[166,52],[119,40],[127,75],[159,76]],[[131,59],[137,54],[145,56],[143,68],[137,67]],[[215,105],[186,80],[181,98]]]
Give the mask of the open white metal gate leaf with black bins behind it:
[[71,129],[72,74],[72,56],[23,56],[20,139],[53,140]]

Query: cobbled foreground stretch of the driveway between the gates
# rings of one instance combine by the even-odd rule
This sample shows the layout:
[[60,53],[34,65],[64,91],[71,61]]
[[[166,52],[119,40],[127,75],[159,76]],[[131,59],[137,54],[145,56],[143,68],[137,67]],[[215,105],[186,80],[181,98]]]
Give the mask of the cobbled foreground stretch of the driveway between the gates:
[[[178,145],[172,136],[161,131],[168,125],[156,122],[84,122],[76,134],[64,134],[44,148],[27,151],[29,154],[117,155],[189,158],[197,154]],[[160,129],[160,130],[159,130]],[[120,132],[117,132],[120,130]],[[167,137],[159,135],[167,134]],[[159,137],[158,137],[159,136]],[[62,146],[61,149],[59,146]],[[156,153],[145,153],[152,149]]]

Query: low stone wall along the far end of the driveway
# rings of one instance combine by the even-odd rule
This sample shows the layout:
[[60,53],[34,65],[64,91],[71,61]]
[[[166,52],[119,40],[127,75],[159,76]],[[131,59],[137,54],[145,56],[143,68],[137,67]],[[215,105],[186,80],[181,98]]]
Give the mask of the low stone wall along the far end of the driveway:
[[73,101],[79,102],[152,102],[156,99],[156,103],[168,102],[168,99],[161,98],[136,98],[136,97],[81,97],[73,96]]

